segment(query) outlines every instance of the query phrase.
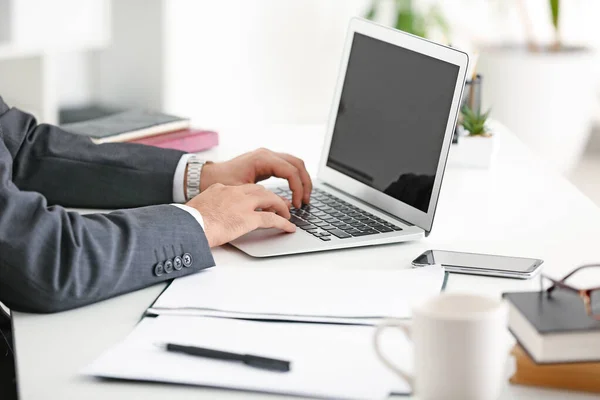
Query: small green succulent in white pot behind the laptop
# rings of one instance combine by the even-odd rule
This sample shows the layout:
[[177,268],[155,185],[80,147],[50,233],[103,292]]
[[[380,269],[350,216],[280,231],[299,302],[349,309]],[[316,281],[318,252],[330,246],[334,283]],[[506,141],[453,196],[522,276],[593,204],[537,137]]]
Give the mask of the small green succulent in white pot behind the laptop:
[[481,113],[465,105],[460,112],[460,140],[451,146],[448,165],[453,167],[488,168],[494,155],[494,135],[488,126],[490,111]]

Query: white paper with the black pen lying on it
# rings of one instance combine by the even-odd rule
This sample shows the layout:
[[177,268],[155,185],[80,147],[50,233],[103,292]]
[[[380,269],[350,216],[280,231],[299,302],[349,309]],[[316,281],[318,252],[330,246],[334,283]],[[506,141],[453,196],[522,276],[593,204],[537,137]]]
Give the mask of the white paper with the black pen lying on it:
[[[409,393],[373,351],[374,328],[160,316],[144,319],[122,343],[88,366],[87,375],[336,399],[383,399]],[[401,367],[412,363],[402,335],[393,341]],[[170,353],[155,343],[187,344],[291,361],[287,373]],[[388,348],[385,347],[384,348]]]

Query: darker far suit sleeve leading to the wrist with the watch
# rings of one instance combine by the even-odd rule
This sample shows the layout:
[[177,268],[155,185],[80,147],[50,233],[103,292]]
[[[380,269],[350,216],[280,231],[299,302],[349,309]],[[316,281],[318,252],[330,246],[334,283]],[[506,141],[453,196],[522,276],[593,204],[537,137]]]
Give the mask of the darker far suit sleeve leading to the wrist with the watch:
[[183,152],[133,143],[96,145],[59,127],[37,125],[2,98],[0,124],[13,158],[13,182],[43,194],[49,204],[126,208],[173,202],[173,175]]

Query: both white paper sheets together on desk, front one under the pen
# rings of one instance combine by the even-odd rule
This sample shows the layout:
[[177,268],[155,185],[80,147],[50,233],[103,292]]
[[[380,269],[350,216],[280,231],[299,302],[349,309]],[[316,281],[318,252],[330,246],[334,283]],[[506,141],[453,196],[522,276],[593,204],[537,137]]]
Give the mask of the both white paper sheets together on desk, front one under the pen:
[[[84,372],[321,398],[406,394],[407,383],[377,359],[371,325],[382,318],[410,317],[412,306],[437,295],[444,279],[439,266],[318,273],[213,268],[175,280],[148,310],[158,317],[142,320]],[[389,334],[395,334],[391,344]],[[410,369],[406,337],[389,330],[383,339],[385,353]],[[156,343],[283,359],[291,362],[291,371],[171,353]]]

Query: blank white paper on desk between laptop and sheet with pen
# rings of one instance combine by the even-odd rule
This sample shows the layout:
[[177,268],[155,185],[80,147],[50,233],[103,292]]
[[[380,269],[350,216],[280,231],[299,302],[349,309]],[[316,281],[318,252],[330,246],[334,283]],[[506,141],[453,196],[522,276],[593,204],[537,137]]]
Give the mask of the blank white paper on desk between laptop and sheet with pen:
[[285,267],[215,267],[176,279],[152,311],[204,310],[257,318],[409,318],[415,304],[440,293],[443,281],[440,266],[319,273]]

